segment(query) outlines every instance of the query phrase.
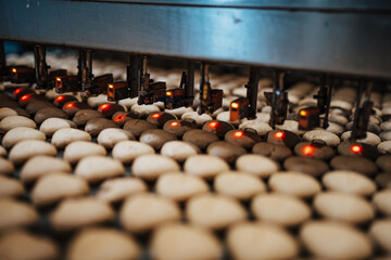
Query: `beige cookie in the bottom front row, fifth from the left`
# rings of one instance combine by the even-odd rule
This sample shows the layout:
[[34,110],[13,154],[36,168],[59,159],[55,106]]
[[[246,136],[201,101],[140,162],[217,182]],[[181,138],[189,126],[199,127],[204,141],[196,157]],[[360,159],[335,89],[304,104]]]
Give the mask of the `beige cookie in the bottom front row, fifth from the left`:
[[364,233],[339,222],[308,222],[301,227],[300,237],[319,259],[365,259],[373,251]]

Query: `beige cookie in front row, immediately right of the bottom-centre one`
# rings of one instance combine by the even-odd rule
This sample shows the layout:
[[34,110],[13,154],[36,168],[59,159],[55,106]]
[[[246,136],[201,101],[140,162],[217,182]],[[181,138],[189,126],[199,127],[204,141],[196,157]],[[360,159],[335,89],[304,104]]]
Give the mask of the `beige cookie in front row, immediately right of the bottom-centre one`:
[[243,222],[227,234],[228,249],[235,259],[295,259],[298,242],[278,225]]

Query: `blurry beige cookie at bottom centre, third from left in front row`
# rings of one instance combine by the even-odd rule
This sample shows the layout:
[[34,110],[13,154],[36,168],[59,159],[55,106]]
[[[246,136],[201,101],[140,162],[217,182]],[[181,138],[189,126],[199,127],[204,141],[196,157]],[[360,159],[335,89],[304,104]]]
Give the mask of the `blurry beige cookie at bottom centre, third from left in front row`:
[[151,255],[161,260],[207,260],[222,259],[223,251],[212,232],[189,224],[169,223],[153,233]]

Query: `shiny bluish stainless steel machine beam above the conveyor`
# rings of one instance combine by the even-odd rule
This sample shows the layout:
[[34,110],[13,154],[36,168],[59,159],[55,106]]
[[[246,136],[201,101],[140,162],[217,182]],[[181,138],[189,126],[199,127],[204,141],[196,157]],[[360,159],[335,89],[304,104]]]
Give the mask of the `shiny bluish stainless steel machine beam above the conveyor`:
[[390,1],[0,0],[0,38],[391,78]]

